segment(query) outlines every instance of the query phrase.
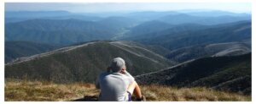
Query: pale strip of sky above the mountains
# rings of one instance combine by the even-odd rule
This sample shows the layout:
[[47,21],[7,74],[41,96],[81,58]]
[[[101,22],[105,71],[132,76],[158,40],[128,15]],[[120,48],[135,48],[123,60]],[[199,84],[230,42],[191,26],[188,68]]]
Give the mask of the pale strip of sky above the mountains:
[[251,3],[4,3],[5,11],[65,10],[73,13],[170,11],[187,9],[251,13]]

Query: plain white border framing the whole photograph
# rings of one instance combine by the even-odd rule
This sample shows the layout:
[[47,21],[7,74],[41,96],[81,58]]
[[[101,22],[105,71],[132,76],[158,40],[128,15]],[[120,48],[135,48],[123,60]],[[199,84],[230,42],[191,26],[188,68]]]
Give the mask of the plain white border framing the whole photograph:
[[[1,83],[0,83],[0,89],[1,89],[1,102],[3,103],[4,101],[4,3],[252,3],[252,79],[255,81],[255,56],[253,53],[255,52],[255,11],[256,11],[256,0],[1,0],[0,3],[0,32],[1,32],[1,42],[0,42],[0,47],[1,47],[1,59],[0,59],[0,64],[1,64]],[[252,97],[255,96],[255,85],[252,81]],[[253,103],[255,101],[254,97],[252,98],[251,102],[218,102],[218,103]],[[45,102],[45,101],[44,101]],[[37,102],[37,103],[44,103],[44,102]],[[55,101],[53,102],[48,102],[47,103],[56,103]],[[16,103],[16,102],[4,102],[4,103]],[[18,103],[35,103],[34,101],[30,102],[20,102]],[[58,103],[72,103],[72,102],[58,102]],[[76,102],[76,103],[102,103],[102,102]],[[106,103],[106,102],[104,102]],[[109,102],[108,102],[109,103]],[[111,102],[111,103],[120,103],[120,102]],[[122,102],[122,103],[131,103],[131,102]],[[132,103],[138,103],[138,102],[132,102]],[[147,102],[147,103],[155,103],[155,102]],[[166,103],[166,102],[165,102]],[[169,103],[206,103],[204,101],[201,102],[190,102],[190,101],[172,101]],[[216,103],[215,101],[213,102],[207,102],[207,103]]]

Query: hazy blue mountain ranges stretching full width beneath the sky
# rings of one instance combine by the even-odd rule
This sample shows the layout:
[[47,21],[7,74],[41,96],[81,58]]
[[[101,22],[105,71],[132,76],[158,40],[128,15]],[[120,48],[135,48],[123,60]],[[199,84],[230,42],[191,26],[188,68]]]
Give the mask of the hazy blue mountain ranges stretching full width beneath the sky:
[[[218,15],[209,16],[211,13]],[[224,11],[201,13],[147,11],[108,17],[99,15],[74,14],[67,11],[7,11],[5,41],[37,41],[67,45],[81,41],[119,40],[141,35],[162,36],[184,30],[204,29],[206,25],[217,26],[251,20],[250,14]]]

